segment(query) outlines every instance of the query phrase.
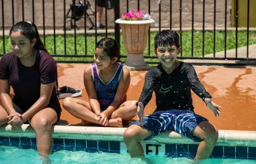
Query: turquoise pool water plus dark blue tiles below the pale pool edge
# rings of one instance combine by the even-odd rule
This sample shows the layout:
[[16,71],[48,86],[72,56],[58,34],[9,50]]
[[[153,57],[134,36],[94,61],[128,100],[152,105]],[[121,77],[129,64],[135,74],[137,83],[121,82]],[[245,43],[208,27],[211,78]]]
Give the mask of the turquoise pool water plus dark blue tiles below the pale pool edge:
[[[142,143],[151,163],[190,163],[197,144]],[[111,140],[53,139],[52,163],[145,163],[129,157],[125,143]],[[36,139],[30,137],[0,137],[1,163],[42,163],[36,151]],[[215,146],[211,159],[200,163],[255,163],[256,147]]]

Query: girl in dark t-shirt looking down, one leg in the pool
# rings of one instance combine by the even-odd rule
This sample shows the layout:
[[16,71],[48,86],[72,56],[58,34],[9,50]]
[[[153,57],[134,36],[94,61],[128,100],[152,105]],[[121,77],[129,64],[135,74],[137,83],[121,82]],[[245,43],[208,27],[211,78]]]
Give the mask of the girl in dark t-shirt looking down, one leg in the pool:
[[56,61],[31,22],[15,24],[10,29],[10,43],[13,52],[0,61],[0,126],[22,126],[28,120],[36,132],[39,154],[48,155],[52,148],[50,129],[62,111],[56,95]]

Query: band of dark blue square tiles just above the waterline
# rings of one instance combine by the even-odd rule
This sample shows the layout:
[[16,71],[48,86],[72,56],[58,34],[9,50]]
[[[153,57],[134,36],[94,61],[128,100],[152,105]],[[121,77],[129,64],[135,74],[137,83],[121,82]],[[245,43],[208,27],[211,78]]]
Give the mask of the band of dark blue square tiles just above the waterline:
[[[0,137],[0,146],[14,146],[23,149],[36,149],[36,140],[27,137]],[[5,142],[7,141],[7,142]],[[53,152],[56,151],[86,151],[86,152],[107,152],[120,153],[120,142],[107,140],[72,140],[53,139]],[[150,143],[153,145],[152,143]],[[197,144],[165,144],[166,157],[188,157],[192,158],[196,154]],[[241,146],[215,146],[211,157],[214,158],[236,158],[236,159],[256,159],[256,147]]]

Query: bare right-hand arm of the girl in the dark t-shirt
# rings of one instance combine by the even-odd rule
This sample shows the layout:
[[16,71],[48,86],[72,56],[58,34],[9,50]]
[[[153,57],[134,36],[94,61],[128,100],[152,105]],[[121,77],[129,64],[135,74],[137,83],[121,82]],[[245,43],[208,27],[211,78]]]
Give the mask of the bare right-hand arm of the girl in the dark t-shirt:
[[50,103],[50,97],[53,93],[54,86],[55,82],[47,84],[41,83],[40,97],[38,100],[36,100],[36,103],[34,103],[33,106],[27,110],[27,112],[24,112],[22,115],[23,122],[29,120],[31,117],[33,117],[33,115],[44,109]]

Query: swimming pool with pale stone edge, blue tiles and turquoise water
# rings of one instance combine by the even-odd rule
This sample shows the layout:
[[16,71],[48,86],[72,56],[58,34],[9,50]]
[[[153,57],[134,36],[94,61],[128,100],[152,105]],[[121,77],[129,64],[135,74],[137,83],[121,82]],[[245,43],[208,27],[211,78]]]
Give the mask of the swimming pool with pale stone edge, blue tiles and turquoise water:
[[[52,163],[142,163],[131,159],[122,140],[125,128],[53,126]],[[29,125],[0,127],[0,163],[40,163],[36,139]],[[217,146],[203,163],[256,163],[255,131],[220,131]],[[143,142],[153,163],[190,163],[197,144],[174,132]],[[188,157],[188,158],[187,158]],[[42,163],[42,161],[41,161]]]

